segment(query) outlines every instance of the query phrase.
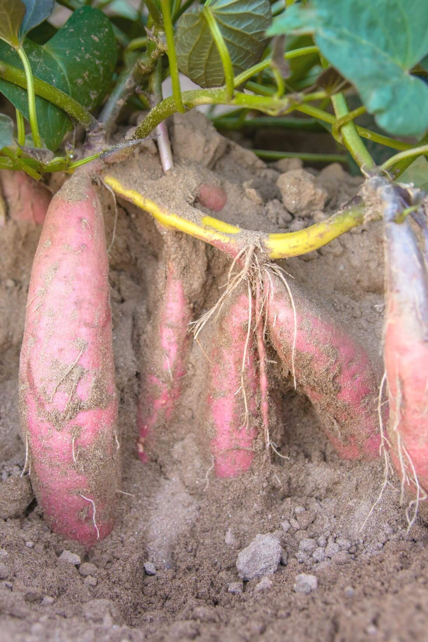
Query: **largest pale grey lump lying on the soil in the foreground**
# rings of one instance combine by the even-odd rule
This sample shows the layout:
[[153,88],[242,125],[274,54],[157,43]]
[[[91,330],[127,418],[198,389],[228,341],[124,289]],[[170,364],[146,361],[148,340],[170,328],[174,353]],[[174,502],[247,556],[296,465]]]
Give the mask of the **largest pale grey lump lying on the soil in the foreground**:
[[275,573],[281,559],[282,547],[273,535],[257,535],[239,553],[236,568],[243,580],[264,577]]

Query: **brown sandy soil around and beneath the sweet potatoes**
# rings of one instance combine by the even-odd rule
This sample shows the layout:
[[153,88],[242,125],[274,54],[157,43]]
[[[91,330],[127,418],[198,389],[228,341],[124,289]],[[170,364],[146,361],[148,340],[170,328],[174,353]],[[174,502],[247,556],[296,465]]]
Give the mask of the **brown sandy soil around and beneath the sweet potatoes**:
[[[266,166],[216,134],[200,114],[171,123],[176,167],[167,177],[153,141],[124,171],[152,181],[171,209],[194,204],[198,185],[215,182],[227,205],[217,216],[247,229],[301,229],[350,198],[358,179],[339,166],[299,173],[295,161]],[[291,174],[289,173],[291,171]],[[297,174],[296,174],[297,172]],[[281,189],[300,185],[295,211]],[[284,178],[286,176],[286,178]],[[55,177],[59,184],[64,177]],[[303,181],[303,182],[302,182]],[[311,198],[304,198],[311,191]],[[114,207],[105,200],[108,243]],[[209,211],[207,211],[209,213]],[[212,474],[203,394],[209,363],[194,343],[184,391],[142,465],[135,447],[141,377],[162,297],[162,234],[147,214],[120,202],[110,251],[114,352],[122,433],[123,490],[112,535],[92,550],[53,534],[21,477],[17,372],[26,293],[39,227],[8,220],[0,229],[0,622],[3,639],[45,641],[422,641],[428,625],[427,537],[418,519],[407,533],[397,479],[363,530],[382,485],[382,463],[344,462],[321,431],[309,401],[273,370],[280,398],[276,443],[287,459],[260,456],[235,480]],[[201,241],[176,234],[194,252],[196,318],[225,283],[228,261]],[[187,252],[187,250],[183,250]],[[206,270],[200,279],[197,266]],[[285,263],[284,263],[285,265]],[[361,340],[382,371],[383,274],[379,225],[360,228],[287,272]],[[203,282],[203,283],[202,283]],[[215,328],[201,333],[210,345]],[[282,562],[268,580],[241,582],[239,551],[272,534]],[[64,554],[64,551],[68,551]],[[78,555],[73,557],[71,555]],[[155,567],[148,566],[151,562]],[[144,568],[146,565],[146,568]],[[316,588],[300,593],[302,573]],[[314,580],[311,580],[314,587]],[[296,590],[297,589],[297,590]]]

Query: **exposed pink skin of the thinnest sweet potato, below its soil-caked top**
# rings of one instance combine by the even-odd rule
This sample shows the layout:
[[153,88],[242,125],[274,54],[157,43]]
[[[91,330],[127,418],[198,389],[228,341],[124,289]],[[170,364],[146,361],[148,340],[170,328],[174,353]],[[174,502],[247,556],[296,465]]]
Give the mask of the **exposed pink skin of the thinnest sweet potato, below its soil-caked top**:
[[[137,414],[139,440],[137,450],[142,462],[148,461],[147,440],[162,419],[169,421],[180,397],[189,349],[189,322],[191,308],[184,293],[183,282],[171,261],[167,267],[166,290],[158,333],[160,372],[148,374],[144,381]],[[154,347],[156,349],[156,347]],[[158,361],[155,361],[158,367]],[[152,368],[153,370],[153,368]]]

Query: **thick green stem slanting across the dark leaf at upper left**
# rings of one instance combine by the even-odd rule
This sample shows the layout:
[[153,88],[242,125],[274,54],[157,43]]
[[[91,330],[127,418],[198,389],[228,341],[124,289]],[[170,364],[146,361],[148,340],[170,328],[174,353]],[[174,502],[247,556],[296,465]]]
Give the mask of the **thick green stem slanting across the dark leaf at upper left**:
[[[17,87],[27,89],[26,74],[21,69],[18,69],[18,67],[13,67],[13,65],[9,65],[3,60],[0,61],[0,78],[13,83],[13,85],[17,85]],[[92,116],[85,107],[82,107],[77,100],[71,98],[69,94],[66,94],[60,89],[56,89],[56,87],[49,85],[49,83],[44,82],[44,80],[40,80],[40,78],[33,78],[33,84],[37,96],[44,98],[49,101],[49,103],[56,105],[56,107],[60,107],[85,130],[96,126],[97,121],[94,116]]]

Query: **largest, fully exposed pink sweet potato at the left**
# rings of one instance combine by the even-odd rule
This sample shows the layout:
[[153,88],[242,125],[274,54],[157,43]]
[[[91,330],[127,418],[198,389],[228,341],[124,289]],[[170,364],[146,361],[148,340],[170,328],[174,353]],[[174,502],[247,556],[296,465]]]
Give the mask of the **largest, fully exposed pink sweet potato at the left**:
[[[20,390],[37,501],[53,530],[91,546],[113,527],[119,455],[103,216],[90,179],[79,180],[71,178],[81,198],[67,200],[63,188],[47,212],[28,291]],[[66,372],[77,373],[71,393]],[[103,400],[94,401],[99,377]],[[95,463],[102,458],[99,480],[87,449],[96,449]]]

